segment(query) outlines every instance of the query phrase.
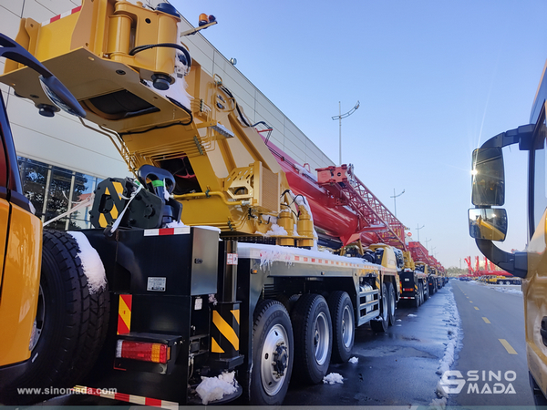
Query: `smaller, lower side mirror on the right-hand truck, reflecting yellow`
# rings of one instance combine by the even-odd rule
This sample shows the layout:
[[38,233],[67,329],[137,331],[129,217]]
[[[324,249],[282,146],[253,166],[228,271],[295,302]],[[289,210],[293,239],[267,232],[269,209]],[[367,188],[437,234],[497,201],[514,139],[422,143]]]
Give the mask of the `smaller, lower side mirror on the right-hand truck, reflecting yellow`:
[[507,211],[503,209],[470,209],[470,236],[488,241],[505,241]]

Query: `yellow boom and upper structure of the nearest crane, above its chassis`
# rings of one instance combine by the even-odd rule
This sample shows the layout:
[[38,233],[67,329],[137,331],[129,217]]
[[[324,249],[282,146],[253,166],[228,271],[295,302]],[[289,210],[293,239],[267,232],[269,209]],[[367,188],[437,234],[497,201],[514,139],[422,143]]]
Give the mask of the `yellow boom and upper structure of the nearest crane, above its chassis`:
[[[290,195],[283,194],[289,189],[284,171],[222,78],[208,75],[195,60],[190,72],[179,78],[178,51],[173,47],[130,55],[129,50],[138,46],[180,46],[179,21],[178,16],[139,3],[84,0],[81,10],[46,26],[26,19],[17,38],[77,97],[88,121],[114,131],[111,135],[131,172],[145,164],[170,170],[173,161],[188,163],[183,170],[192,174],[192,185],[187,187],[189,179],[182,180],[184,187],[175,191],[185,224],[270,234],[270,217],[290,208],[287,233],[271,236],[280,244],[298,239],[300,246],[310,246],[314,231],[305,222],[300,229],[307,235],[293,232],[298,210]],[[152,87],[150,80],[157,76],[169,78],[177,92],[184,92],[186,81],[190,107]],[[34,95],[36,104],[49,104],[27,67],[6,64],[0,79],[23,97]],[[129,111],[126,106],[135,108]],[[176,179],[186,178],[174,170]]]

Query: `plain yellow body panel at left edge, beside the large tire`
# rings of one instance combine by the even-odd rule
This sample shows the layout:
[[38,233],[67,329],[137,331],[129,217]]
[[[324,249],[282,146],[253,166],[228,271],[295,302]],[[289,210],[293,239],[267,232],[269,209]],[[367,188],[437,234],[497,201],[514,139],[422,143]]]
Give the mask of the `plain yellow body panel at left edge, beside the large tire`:
[[[5,207],[2,207],[5,209]],[[30,357],[40,282],[42,222],[12,205],[0,298],[0,366]]]

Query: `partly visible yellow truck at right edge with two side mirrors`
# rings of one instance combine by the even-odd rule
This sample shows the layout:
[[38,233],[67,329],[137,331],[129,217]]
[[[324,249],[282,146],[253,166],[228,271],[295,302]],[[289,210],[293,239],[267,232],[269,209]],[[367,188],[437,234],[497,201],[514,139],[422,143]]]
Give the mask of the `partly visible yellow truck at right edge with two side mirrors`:
[[[530,124],[502,132],[473,151],[471,201],[475,208],[469,210],[470,236],[475,238],[482,254],[502,270],[522,278],[526,354],[530,384],[538,405],[547,404],[546,98],[544,69],[532,104]],[[504,241],[507,234],[507,212],[499,208],[505,201],[502,149],[514,144],[528,151],[528,238],[525,251],[511,253],[502,251],[493,241]]]

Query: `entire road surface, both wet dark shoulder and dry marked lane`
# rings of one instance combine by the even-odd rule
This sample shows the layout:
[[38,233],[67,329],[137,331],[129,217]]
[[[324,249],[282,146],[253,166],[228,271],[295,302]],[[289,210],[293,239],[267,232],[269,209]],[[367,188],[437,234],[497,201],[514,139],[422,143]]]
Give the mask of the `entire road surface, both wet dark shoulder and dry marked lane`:
[[[344,384],[291,386],[284,405],[533,405],[522,295],[511,288],[453,280],[418,309],[403,304],[387,333],[357,329],[358,363],[329,369]],[[445,371],[459,384],[443,384]]]

